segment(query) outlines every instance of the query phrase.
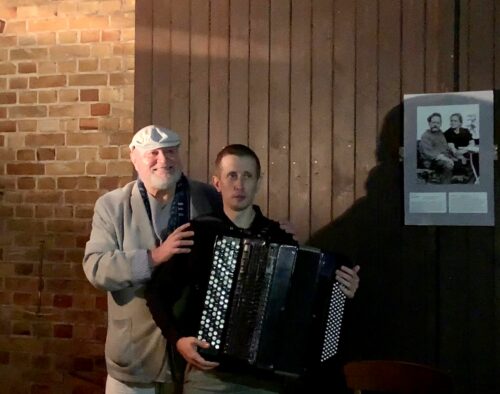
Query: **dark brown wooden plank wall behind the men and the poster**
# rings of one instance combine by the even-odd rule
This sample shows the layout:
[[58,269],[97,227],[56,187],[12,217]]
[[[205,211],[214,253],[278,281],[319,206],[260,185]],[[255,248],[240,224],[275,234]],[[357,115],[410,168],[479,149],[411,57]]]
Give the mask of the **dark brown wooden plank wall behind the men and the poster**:
[[499,88],[498,1],[143,0],[136,15],[136,129],[177,130],[199,180],[249,144],[263,211],[362,264],[346,357],[498,392],[497,230],[404,226],[398,160],[404,93]]

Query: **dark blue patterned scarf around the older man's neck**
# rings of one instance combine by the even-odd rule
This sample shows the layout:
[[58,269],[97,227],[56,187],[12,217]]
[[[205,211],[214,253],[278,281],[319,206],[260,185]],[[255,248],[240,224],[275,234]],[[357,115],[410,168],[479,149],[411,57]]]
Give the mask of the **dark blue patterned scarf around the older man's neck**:
[[[137,187],[141,193],[142,201],[144,201],[144,206],[146,212],[148,213],[149,221],[151,226],[153,226],[153,215],[151,214],[151,205],[149,204],[148,192],[144,183],[137,179]],[[168,220],[168,226],[166,231],[162,231],[162,239],[157,239],[157,244],[165,241],[172,231],[177,227],[187,223],[189,221],[189,182],[184,174],[181,175],[180,179],[175,185],[174,199],[172,200],[172,205],[170,206],[170,218]]]

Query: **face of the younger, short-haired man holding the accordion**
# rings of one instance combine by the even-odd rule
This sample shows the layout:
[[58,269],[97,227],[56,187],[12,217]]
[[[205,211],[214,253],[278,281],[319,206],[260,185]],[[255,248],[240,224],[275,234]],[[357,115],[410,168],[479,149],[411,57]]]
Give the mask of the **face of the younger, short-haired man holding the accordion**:
[[259,188],[259,175],[253,157],[224,156],[212,179],[222,195],[224,209],[238,212],[251,206]]

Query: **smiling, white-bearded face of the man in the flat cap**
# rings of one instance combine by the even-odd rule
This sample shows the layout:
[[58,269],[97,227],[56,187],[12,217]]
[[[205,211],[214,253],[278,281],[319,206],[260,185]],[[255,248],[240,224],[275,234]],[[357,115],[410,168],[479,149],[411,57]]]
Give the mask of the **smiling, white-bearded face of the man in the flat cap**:
[[146,190],[153,194],[175,187],[182,173],[178,147],[146,151],[136,148],[130,153],[130,159]]

